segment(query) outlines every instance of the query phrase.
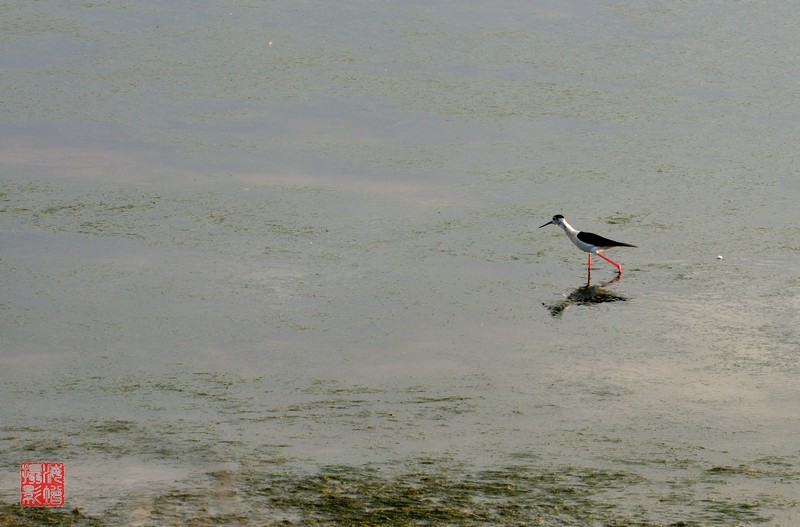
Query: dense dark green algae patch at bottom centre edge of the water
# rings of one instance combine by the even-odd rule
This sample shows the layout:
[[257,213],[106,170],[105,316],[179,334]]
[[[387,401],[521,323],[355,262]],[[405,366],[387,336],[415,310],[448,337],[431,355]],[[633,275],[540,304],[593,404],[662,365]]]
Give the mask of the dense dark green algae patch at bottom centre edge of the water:
[[271,508],[304,525],[589,525],[598,520],[648,525],[630,523],[596,501],[609,488],[639,479],[626,473],[566,475],[522,467],[391,476],[379,469],[327,467],[302,478],[273,476],[260,493],[269,496]]

